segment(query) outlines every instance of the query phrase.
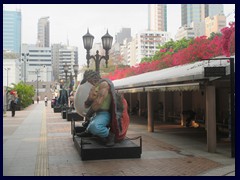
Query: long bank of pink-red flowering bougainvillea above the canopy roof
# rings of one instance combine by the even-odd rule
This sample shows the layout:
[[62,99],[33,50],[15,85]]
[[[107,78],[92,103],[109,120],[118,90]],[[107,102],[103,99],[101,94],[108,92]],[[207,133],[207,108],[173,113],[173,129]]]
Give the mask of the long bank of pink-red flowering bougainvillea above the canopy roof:
[[133,67],[117,68],[105,77],[116,80],[220,55],[229,57],[235,53],[235,22],[229,25],[230,27],[221,30],[222,36],[215,36],[212,40],[207,39],[206,36],[197,37],[187,48],[178,50],[176,53],[172,48],[160,49],[156,53],[165,53],[161,59],[143,62]]

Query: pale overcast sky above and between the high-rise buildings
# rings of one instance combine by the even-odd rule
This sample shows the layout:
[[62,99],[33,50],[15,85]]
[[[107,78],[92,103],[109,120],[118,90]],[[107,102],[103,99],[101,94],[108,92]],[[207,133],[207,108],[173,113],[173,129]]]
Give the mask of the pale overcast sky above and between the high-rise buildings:
[[[4,4],[5,10],[22,11],[22,43],[35,44],[37,41],[37,23],[41,17],[49,16],[50,43],[67,43],[77,46],[79,57],[85,58],[82,36],[87,28],[95,37],[94,43],[108,32],[115,39],[121,28],[131,28],[132,36],[148,28],[147,4]],[[234,4],[224,5],[224,14],[235,9]],[[181,26],[180,4],[167,6],[168,32],[173,36]],[[227,18],[234,20],[234,13]],[[81,59],[79,59],[81,61]],[[82,64],[80,62],[80,64]]]

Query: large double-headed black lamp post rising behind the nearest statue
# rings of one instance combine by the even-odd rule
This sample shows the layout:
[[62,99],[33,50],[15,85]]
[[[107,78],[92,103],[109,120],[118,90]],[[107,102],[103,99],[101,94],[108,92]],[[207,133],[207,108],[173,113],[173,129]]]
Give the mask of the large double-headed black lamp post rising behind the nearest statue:
[[93,45],[93,39],[94,39],[94,36],[91,35],[88,30],[87,34],[83,36],[83,45],[84,45],[84,48],[87,50],[87,55],[86,55],[87,67],[89,67],[89,62],[90,62],[90,59],[92,58],[95,61],[95,66],[96,66],[95,71],[99,72],[99,65],[102,59],[106,60],[105,62],[106,67],[108,67],[108,59],[109,59],[108,52],[112,47],[113,37],[108,34],[108,31],[102,37],[102,46],[103,46],[103,49],[105,49],[105,56],[99,55],[98,50],[96,51],[96,55],[90,55],[90,50],[92,49],[92,45]]

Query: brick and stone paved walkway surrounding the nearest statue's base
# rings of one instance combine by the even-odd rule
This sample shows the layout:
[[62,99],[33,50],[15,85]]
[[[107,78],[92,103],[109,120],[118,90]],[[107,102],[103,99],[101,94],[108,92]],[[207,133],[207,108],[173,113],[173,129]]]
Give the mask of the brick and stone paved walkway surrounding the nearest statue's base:
[[39,102],[15,117],[10,114],[3,118],[4,176],[235,176],[230,143],[220,141],[217,152],[208,153],[201,128],[156,121],[150,133],[146,120],[131,117],[127,136],[142,136],[141,158],[82,161],[71,122],[50,104]]

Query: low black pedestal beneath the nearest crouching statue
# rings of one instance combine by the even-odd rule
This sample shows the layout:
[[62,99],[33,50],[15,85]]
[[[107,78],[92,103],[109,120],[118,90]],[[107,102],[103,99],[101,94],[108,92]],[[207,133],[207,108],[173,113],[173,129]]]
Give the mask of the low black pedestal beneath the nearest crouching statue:
[[82,160],[140,158],[142,138],[139,137],[138,139],[140,141],[139,145],[126,138],[120,143],[115,143],[113,147],[106,147],[96,137],[80,138],[74,136],[74,145]]

